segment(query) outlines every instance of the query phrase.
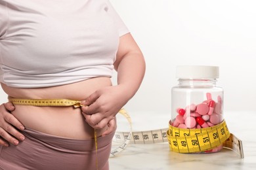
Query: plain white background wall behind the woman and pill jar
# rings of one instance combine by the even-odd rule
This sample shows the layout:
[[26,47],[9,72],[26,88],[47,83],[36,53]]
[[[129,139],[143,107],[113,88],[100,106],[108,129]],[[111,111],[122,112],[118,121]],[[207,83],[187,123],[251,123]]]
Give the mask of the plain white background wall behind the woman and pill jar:
[[[155,112],[156,118],[171,116],[177,65],[219,66],[217,84],[224,89],[224,114],[255,112],[256,1],[111,2],[146,59],[140,90],[125,106],[132,118],[147,112]],[[7,96],[0,92],[3,103]],[[167,126],[168,120],[163,122]]]

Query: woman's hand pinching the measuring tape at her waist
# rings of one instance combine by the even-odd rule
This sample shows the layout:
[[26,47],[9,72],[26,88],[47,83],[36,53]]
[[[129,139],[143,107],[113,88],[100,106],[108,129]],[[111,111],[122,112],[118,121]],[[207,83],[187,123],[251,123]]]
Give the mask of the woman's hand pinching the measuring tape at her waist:
[[116,114],[127,103],[120,86],[109,86],[92,93],[85,101],[81,101],[85,121],[95,129],[108,126],[103,135],[116,129]]

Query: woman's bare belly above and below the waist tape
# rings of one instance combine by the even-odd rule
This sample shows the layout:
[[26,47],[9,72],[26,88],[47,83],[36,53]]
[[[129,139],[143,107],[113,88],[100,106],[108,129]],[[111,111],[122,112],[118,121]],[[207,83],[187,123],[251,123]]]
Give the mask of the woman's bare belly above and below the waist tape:
[[[12,88],[1,84],[9,97],[22,99],[75,99],[84,100],[91,93],[112,86],[108,77],[96,77],[47,88]],[[81,108],[74,107],[34,107],[15,105],[12,114],[25,126],[43,133],[72,139],[92,139],[94,130],[85,122]],[[106,127],[97,130],[98,136]]]

